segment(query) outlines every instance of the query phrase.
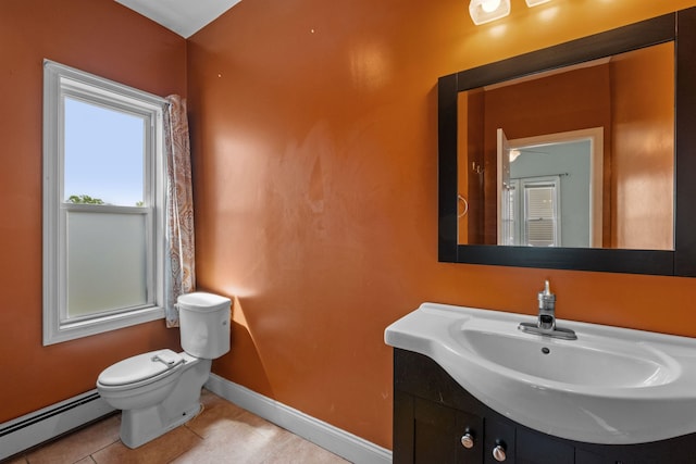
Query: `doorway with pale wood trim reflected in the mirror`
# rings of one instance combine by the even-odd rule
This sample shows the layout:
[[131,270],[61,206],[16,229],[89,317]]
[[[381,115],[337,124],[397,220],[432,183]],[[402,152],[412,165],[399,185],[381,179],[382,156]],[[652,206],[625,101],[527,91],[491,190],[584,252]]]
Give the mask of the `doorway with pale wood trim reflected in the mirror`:
[[601,247],[601,127],[501,139],[498,244]]

